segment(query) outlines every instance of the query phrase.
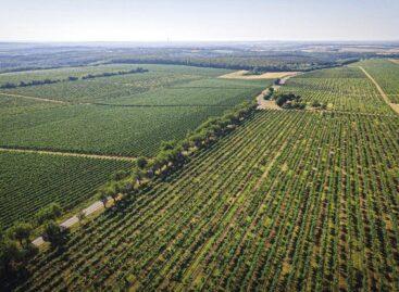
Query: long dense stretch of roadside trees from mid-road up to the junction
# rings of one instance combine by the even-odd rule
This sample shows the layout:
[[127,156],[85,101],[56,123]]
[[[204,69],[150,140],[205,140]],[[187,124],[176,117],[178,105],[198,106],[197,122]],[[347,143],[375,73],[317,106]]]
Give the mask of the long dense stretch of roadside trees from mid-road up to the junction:
[[165,179],[180,168],[194,152],[210,147],[219,138],[233,131],[255,109],[255,102],[245,102],[221,117],[209,118],[182,141],[163,142],[154,157],[138,157],[137,167],[133,172],[114,175],[114,179],[98,190],[97,199],[107,207],[111,199],[116,203],[119,198],[135,194],[155,178]]

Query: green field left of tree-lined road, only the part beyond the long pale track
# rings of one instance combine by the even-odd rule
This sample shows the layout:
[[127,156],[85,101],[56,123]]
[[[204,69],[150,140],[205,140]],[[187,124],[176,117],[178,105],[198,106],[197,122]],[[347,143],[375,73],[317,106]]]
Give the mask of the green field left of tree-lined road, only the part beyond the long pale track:
[[185,137],[208,117],[252,100],[272,84],[217,78],[227,69],[142,64],[8,73],[0,80],[50,74],[67,78],[138,66],[148,72],[0,90],[0,145],[151,156],[161,141]]

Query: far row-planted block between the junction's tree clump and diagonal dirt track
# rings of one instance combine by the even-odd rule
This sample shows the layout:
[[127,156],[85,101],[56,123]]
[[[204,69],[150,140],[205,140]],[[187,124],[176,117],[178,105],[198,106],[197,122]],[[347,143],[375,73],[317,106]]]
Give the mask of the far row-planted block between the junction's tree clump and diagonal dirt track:
[[327,109],[373,114],[392,114],[373,82],[357,67],[315,71],[290,78],[283,92],[295,92],[306,102]]

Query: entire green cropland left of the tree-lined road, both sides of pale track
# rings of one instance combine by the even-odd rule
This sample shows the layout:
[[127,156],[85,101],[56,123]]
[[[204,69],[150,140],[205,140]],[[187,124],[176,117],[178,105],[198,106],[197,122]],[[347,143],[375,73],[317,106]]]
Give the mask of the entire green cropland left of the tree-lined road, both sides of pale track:
[[[148,72],[67,80],[138,66]],[[134,157],[153,155],[161,141],[184,138],[271,84],[217,78],[228,72],[122,64],[0,74],[0,85],[62,80],[0,89],[2,227],[51,202],[76,207]]]

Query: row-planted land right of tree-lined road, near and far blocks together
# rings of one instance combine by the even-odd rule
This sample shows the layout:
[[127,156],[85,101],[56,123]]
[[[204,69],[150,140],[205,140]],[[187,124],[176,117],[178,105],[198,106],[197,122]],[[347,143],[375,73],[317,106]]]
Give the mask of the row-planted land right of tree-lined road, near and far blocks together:
[[329,111],[253,113],[16,290],[398,291],[399,116],[359,65],[289,79]]

